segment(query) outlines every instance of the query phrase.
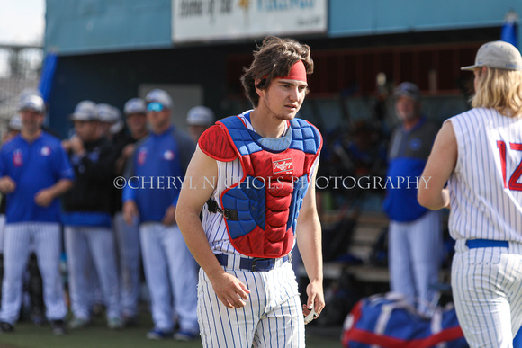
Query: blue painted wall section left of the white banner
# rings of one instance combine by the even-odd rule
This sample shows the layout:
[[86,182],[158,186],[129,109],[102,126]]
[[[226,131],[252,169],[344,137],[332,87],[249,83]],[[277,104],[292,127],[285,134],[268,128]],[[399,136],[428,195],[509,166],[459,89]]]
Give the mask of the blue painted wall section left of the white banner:
[[172,46],[170,0],[47,0],[45,48],[60,55]]

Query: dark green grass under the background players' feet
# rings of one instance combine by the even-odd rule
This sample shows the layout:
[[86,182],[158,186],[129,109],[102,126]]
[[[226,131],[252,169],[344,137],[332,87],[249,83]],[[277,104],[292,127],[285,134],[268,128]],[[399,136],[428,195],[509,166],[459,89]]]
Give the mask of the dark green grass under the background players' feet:
[[[0,334],[0,348],[144,348],[144,347],[202,347],[198,339],[190,343],[174,340],[151,341],[145,334],[152,327],[149,314],[140,317],[138,327],[112,331],[103,318],[94,320],[91,326],[81,330],[68,331],[67,335],[54,336],[50,326],[35,326],[31,321],[23,321],[15,326],[15,331]],[[337,329],[321,329],[311,326],[307,330],[306,345],[311,348],[341,348]]]

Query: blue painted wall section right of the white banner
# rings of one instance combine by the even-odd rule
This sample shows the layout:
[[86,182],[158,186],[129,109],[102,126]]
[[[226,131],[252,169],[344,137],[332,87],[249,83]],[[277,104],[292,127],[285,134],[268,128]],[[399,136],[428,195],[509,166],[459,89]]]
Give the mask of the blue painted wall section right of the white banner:
[[[501,26],[520,0],[329,0],[329,36]],[[518,26],[518,47],[522,25]]]

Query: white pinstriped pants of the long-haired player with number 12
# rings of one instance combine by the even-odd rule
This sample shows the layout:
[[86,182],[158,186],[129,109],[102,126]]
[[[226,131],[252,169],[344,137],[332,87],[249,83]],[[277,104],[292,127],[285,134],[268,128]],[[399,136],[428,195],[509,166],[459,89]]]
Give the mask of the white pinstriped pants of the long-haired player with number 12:
[[451,285],[472,348],[510,348],[522,325],[522,244],[469,249],[457,240]]

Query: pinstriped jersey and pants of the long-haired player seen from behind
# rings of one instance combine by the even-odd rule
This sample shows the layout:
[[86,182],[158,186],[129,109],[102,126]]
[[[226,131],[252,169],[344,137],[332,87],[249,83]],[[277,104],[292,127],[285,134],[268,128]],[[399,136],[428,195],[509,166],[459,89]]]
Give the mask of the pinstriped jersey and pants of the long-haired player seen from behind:
[[[512,347],[522,325],[522,120],[476,108],[450,119],[458,158],[449,183],[455,310],[472,347]],[[476,247],[467,239],[507,241]]]

